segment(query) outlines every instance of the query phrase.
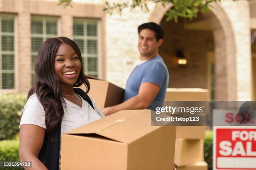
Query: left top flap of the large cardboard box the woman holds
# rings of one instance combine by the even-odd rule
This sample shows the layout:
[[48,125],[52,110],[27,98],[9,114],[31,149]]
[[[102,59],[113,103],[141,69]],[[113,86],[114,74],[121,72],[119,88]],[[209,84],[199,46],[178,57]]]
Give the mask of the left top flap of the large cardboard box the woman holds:
[[[123,111],[117,112],[115,114],[109,115],[107,117],[104,117],[100,120],[91,122],[87,125],[76,128],[74,130],[68,131],[65,134],[90,134],[90,133],[98,134],[98,132],[100,130],[109,128],[110,126],[118,124],[118,123],[120,123],[124,120],[127,120],[128,118],[133,117],[134,115],[137,115],[138,113],[144,112],[144,111],[145,110],[123,110]],[[103,135],[103,136],[108,138],[105,135]]]

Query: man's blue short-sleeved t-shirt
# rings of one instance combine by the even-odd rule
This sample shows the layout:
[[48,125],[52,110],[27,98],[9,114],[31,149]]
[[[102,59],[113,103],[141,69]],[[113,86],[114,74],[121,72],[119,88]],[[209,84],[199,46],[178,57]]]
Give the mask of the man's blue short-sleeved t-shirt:
[[164,60],[160,56],[156,56],[135,67],[126,82],[123,101],[138,95],[139,88],[143,82],[151,82],[160,87],[158,94],[148,109],[156,110],[156,107],[162,107],[169,83],[169,73]]

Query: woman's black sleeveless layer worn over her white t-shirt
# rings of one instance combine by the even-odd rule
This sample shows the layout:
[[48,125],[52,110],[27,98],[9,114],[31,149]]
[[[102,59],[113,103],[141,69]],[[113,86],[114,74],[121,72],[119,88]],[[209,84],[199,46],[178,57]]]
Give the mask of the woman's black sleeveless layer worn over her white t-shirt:
[[[80,95],[89,105],[94,109],[92,100],[80,88],[74,88],[74,92]],[[59,170],[59,147],[61,137],[61,122],[58,123],[56,130],[54,131],[54,142],[49,139],[48,133],[44,135],[44,143],[39,152],[38,159],[46,166],[49,170]]]

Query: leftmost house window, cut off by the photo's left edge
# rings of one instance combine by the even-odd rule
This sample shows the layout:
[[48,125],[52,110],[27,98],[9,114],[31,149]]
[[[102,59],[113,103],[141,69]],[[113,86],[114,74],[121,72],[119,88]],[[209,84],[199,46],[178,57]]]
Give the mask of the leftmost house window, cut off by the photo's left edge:
[[0,30],[0,89],[14,89],[14,16],[0,15]]

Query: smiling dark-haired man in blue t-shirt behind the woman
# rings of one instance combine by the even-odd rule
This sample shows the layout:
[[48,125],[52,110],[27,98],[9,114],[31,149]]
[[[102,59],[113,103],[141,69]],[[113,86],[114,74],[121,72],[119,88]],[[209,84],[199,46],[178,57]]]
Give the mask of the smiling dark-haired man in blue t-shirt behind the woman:
[[164,31],[156,23],[144,23],[138,27],[138,35],[141,60],[126,82],[123,103],[102,109],[106,116],[120,110],[156,110],[163,105],[169,73],[158,52]]

